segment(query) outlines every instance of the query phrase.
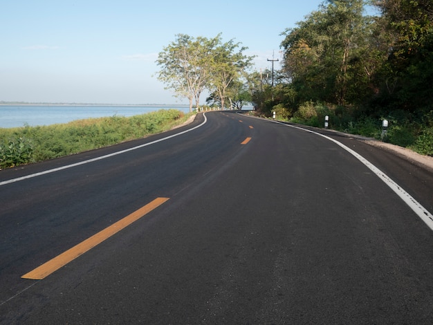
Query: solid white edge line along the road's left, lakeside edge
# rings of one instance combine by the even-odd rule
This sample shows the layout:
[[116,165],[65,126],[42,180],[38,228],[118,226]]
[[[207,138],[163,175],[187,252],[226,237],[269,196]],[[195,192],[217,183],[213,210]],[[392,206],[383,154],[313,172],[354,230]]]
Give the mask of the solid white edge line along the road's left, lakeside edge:
[[77,167],[77,166],[88,164],[88,163],[93,163],[94,161],[97,161],[97,160],[102,160],[102,159],[113,157],[113,156],[117,156],[117,155],[120,155],[120,154],[125,154],[125,152],[128,152],[128,151],[133,151],[133,150],[136,150],[136,149],[140,149],[142,147],[147,147],[149,145],[154,145],[157,142],[168,140],[168,139],[174,138],[176,136],[181,136],[181,134],[184,134],[184,133],[190,132],[192,130],[198,129],[199,127],[202,127],[206,122],[208,122],[208,118],[206,118],[205,113],[203,113],[203,116],[204,116],[205,120],[201,124],[197,125],[196,127],[193,127],[192,129],[187,129],[185,131],[173,134],[172,136],[167,136],[165,138],[154,140],[152,142],[145,143],[144,145],[139,145],[137,147],[132,147],[132,148],[125,149],[125,150],[122,150],[122,151],[116,151],[116,152],[113,152],[112,154],[108,154],[108,155],[92,158],[92,159],[89,159],[89,160],[80,161],[80,163],[75,163],[75,164],[71,164],[71,165],[66,165],[66,166],[57,167],[57,168],[53,168],[53,169],[48,169],[46,171],[40,171],[39,173],[30,174],[30,175],[26,175],[26,176],[22,176],[22,177],[18,177],[18,178],[12,178],[10,180],[3,180],[3,182],[0,182],[0,186],[1,185],[6,185],[6,184],[10,184],[10,183],[19,182],[20,180],[26,180],[28,178],[33,178],[33,177],[42,176],[42,175],[45,175],[45,174],[54,173],[55,171],[60,171],[60,170],[63,170],[63,169],[68,169],[68,168]]

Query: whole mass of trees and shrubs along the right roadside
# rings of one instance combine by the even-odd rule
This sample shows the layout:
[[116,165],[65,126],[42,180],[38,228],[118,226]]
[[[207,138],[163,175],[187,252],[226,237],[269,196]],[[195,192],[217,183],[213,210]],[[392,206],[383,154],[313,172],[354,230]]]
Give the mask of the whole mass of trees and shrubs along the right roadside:
[[248,77],[259,115],[315,127],[329,115],[374,138],[388,120],[383,140],[433,156],[432,0],[327,0],[282,35],[281,70]]

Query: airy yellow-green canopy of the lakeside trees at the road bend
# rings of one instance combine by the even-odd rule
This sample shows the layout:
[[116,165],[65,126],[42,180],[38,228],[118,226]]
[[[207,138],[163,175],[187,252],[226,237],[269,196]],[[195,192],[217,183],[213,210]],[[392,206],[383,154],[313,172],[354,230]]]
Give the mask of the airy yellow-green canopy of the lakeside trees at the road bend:
[[246,47],[233,40],[223,43],[221,34],[212,39],[176,35],[176,40],[158,54],[158,80],[167,84],[178,97],[187,97],[190,110],[195,100],[197,108],[205,89],[213,94],[214,102],[225,107],[235,95],[233,84],[246,76],[252,57],[243,55]]

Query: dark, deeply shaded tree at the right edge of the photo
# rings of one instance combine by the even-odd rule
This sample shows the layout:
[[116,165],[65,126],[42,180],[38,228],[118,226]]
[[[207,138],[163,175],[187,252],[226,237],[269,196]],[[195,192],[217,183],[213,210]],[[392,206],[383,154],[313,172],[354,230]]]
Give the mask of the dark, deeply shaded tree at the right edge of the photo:
[[433,1],[377,0],[383,30],[389,35],[388,59],[380,82],[389,106],[414,112],[433,108]]

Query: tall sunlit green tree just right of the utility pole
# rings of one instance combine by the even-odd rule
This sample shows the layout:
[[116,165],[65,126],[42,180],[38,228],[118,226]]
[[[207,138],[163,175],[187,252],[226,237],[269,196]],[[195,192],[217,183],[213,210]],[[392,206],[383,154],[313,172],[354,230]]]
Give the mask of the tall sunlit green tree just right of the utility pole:
[[371,39],[363,0],[328,0],[284,32],[284,71],[304,101],[347,104],[369,87]]

